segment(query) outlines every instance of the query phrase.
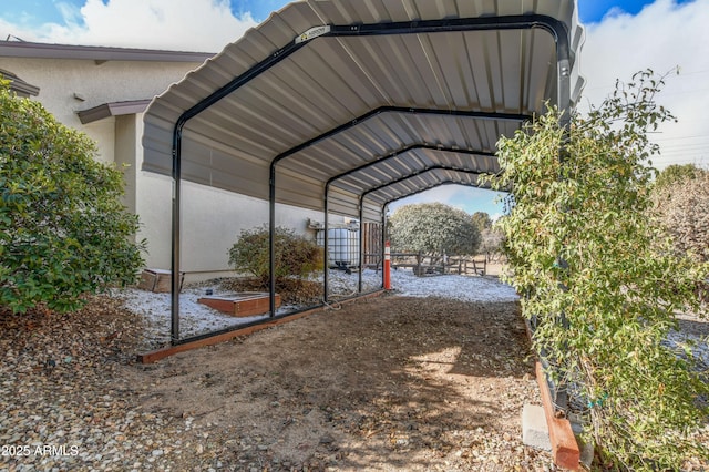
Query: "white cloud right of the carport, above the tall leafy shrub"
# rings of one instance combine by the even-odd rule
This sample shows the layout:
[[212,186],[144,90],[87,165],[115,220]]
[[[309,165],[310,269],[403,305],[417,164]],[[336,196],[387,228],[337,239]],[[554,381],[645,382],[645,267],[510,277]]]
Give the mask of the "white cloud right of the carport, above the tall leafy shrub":
[[[709,1],[676,4],[657,0],[637,16],[614,11],[586,30],[580,59],[588,80],[585,100],[599,104],[616,79],[630,81],[635,72],[651,69],[664,74],[679,66],[679,75],[666,79],[658,102],[678,119],[665,124],[654,140],[662,156],[658,167],[672,163],[709,164]],[[582,103],[582,110],[586,109]]]

